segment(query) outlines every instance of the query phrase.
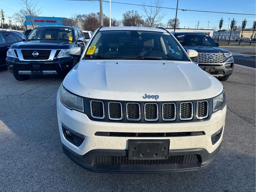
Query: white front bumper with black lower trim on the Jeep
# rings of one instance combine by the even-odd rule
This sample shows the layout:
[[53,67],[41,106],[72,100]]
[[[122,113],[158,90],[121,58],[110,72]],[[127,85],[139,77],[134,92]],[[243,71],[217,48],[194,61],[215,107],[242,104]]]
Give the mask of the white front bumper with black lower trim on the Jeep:
[[[69,110],[63,106],[57,94],[58,126],[62,146],[66,155],[80,166],[96,172],[176,172],[196,170],[207,166],[212,162],[220,150],[221,136],[216,143],[212,143],[212,135],[221,128],[224,129],[226,106],[211,115],[208,120],[200,122],[179,122],[179,123],[116,123],[96,122],[90,120],[86,114]],[[64,136],[63,125],[67,130],[83,136],[79,145],[72,144]],[[204,132],[203,135],[190,136],[168,136],[168,137],[147,137],[146,139],[170,139],[169,156],[197,155],[198,161],[193,163],[171,163],[171,164],[131,164],[127,159],[128,140],[142,140],[145,137],[128,136],[98,136],[96,132],[139,132],[139,133],[160,133],[160,132]],[[124,164],[96,164],[94,159],[97,156],[106,158],[121,158],[126,161]],[[106,157],[103,157],[106,156]],[[113,157],[109,157],[113,156]]]

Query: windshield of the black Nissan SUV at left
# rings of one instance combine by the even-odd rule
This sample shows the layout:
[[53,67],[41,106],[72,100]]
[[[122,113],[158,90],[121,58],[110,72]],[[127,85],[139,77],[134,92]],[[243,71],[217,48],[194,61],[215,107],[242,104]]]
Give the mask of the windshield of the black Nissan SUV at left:
[[71,29],[66,28],[38,28],[32,30],[28,40],[60,40],[72,41],[73,33]]

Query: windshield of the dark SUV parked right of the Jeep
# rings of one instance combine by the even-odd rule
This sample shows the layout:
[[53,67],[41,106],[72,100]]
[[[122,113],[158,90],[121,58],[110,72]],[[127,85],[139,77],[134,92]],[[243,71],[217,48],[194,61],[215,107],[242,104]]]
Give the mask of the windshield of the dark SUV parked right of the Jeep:
[[217,47],[216,43],[208,35],[200,34],[176,34],[176,39],[182,46],[214,46]]

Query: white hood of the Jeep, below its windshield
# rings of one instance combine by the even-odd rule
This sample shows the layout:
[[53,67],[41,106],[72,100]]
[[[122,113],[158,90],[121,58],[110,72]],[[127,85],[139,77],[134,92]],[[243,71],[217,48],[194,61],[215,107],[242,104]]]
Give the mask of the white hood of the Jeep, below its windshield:
[[159,95],[158,101],[199,100],[223,90],[193,62],[155,60],[81,60],[64,86],[87,98],[124,101],[154,101],[145,94]]

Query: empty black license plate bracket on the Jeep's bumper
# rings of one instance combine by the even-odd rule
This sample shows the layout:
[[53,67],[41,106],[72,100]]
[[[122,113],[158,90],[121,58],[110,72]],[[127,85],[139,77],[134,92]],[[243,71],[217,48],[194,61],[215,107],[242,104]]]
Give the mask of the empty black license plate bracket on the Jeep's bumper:
[[131,160],[167,159],[170,140],[128,140]]

